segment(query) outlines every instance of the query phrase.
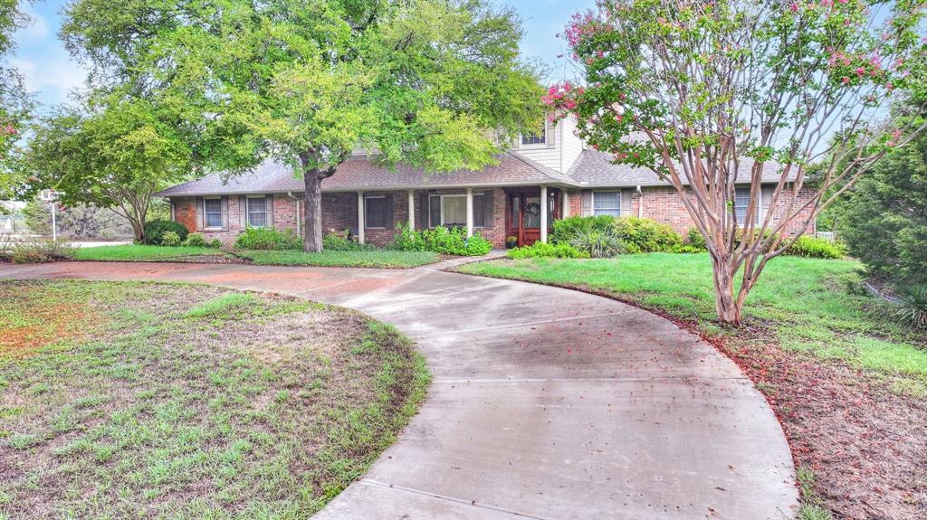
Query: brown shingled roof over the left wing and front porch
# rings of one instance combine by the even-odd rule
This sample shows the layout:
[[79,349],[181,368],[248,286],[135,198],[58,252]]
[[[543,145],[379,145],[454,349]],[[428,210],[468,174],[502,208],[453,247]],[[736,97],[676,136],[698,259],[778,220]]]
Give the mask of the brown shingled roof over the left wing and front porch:
[[[498,157],[499,163],[476,171],[426,174],[421,168],[400,165],[395,171],[377,165],[369,157],[354,156],[342,163],[335,175],[322,181],[323,192],[357,190],[409,190],[451,187],[565,184],[575,180],[514,152]],[[245,193],[303,192],[301,179],[287,165],[267,161],[259,167],[223,180],[221,173],[171,186],[155,195],[226,195]]]

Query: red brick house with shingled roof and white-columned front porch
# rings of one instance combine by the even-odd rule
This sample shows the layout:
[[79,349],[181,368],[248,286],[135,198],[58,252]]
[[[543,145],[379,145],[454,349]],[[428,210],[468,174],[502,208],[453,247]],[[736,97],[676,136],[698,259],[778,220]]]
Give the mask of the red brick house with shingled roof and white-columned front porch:
[[[548,123],[539,135],[522,136],[498,164],[479,171],[425,174],[411,167],[396,171],[378,167],[366,155],[354,155],[322,181],[324,229],[349,229],[360,241],[386,245],[396,224],[415,229],[461,226],[503,247],[506,237],[519,244],[546,241],[555,219],[576,215],[652,218],[680,233],[692,226],[679,194],[653,172],[613,165],[610,156],[588,149],[567,118]],[[751,164],[741,167],[749,171]],[[748,177],[749,174],[744,174]],[[761,212],[779,180],[774,165],[764,173]],[[749,184],[737,188],[735,211],[745,212]],[[302,180],[284,165],[272,162],[248,174],[223,180],[210,175],[157,193],[171,203],[171,218],[207,239],[234,241],[248,226],[302,232]],[[743,194],[743,197],[742,197]],[[786,195],[771,208],[781,218]],[[810,197],[810,191],[798,193]],[[810,210],[808,210],[810,211]],[[801,230],[795,219],[786,232]],[[812,228],[809,232],[814,232]]]

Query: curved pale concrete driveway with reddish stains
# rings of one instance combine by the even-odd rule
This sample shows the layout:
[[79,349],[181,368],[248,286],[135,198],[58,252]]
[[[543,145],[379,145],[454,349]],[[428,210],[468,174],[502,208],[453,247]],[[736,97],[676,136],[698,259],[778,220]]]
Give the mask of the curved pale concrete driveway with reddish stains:
[[361,310],[413,337],[421,411],[316,518],[791,518],[781,427],[736,365],[671,322],[551,287],[439,271],[0,265],[0,278],[197,281]]

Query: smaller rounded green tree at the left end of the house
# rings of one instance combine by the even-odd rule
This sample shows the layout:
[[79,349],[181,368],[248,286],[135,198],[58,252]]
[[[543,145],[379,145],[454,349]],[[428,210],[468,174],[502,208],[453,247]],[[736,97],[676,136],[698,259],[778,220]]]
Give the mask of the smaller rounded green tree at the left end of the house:
[[91,93],[35,125],[23,161],[26,196],[53,189],[65,206],[109,208],[143,241],[152,194],[190,174],[181,128],[171,111],[144,98]]

